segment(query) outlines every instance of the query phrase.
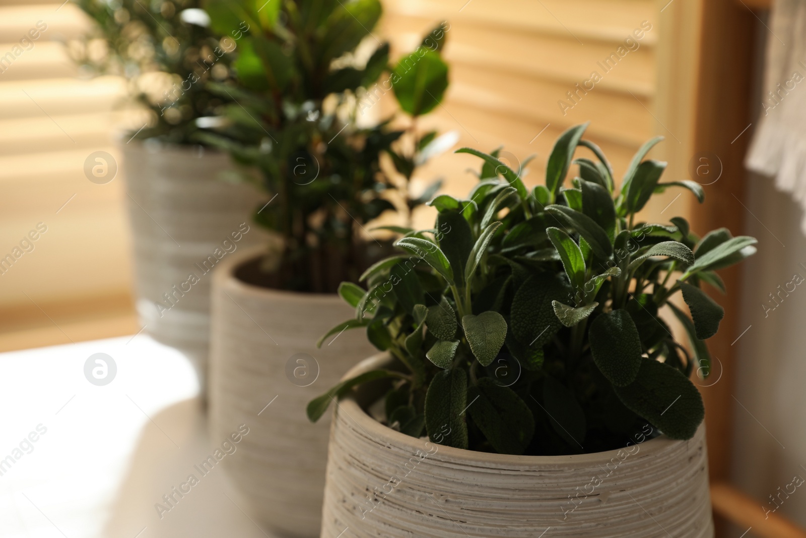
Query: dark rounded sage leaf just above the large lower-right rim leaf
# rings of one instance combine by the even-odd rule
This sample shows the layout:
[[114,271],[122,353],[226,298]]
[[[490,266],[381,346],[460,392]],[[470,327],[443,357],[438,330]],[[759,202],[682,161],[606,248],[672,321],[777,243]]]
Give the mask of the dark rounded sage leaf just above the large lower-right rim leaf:
[[596,317],[588,332],[591,354],[600,372],[615,386],[634,381],[641,367],[641,339],[635,322],[625,310]]

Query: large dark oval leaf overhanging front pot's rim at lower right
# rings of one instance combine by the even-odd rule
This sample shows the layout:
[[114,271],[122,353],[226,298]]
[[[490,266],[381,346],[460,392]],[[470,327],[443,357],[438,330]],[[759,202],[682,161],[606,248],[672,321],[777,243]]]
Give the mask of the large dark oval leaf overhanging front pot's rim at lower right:
[[650,359],[642,359],[635,381],[616,387],[616,394],[671,439],[691,439],[705,416],[696,386],[679,369]]

